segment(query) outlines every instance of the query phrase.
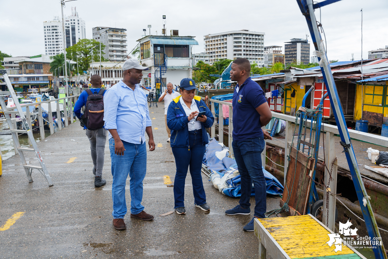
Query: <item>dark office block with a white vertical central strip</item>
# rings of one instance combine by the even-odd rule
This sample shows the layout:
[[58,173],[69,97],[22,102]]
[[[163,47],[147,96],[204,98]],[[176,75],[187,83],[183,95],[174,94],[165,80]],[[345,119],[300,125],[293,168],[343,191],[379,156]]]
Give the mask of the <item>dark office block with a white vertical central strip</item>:
[[284,45],[286,64],[296,61],[307,65],[310,63],[310,43],[306,39],[293,38]]

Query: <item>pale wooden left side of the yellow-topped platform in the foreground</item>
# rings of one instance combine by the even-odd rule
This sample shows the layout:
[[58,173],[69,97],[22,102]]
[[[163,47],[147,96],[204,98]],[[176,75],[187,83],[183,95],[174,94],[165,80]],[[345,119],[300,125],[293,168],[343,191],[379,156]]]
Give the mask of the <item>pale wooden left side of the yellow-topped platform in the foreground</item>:
[[255,236],[257,236],[260,243],[265,247],[272,258],[291,259],[258,219],[253,221],[253,225],[255,228]]

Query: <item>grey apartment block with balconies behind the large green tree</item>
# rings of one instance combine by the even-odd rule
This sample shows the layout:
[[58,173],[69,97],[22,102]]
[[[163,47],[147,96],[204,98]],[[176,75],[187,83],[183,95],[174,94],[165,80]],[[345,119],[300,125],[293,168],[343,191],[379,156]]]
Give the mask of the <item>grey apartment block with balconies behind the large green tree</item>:
[[103,57],[109,61],[120,61],[126,57],[128,43],[125,31],[123,28],[102,26],[92,29],[93,39],[105,45],[105,49],[101,50],[105,53]]

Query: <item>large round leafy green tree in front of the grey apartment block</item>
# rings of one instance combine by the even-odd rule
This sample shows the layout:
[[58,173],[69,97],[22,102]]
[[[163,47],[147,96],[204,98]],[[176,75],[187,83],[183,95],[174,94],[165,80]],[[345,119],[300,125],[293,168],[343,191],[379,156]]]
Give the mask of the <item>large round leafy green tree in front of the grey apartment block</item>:
[[[92,49],[92,47],[95,47]],[[101,43],[101,61],[108,61],[103,57],[105,45]],[[82,39],[79,40],[76,44],[71,47],[66,48],[66,59],[71,59],[73,61],[77,60],[78,56],[78,66],[81,71],[88,71],[90,68],[90,63],[92,63],[93,56],[93,66],[99,66],[100,62],[100,43],[93,39]],[[77,66],[74,66],[74,72],[77,71]]]

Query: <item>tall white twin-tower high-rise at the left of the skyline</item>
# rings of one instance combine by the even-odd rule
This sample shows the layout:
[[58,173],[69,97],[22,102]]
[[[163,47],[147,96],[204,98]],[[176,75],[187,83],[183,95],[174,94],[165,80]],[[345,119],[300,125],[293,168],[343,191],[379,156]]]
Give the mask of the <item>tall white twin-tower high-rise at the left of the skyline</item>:
[[[78,17],[76,7],[71,8],[71,16],[64,18],[65,39],[63,38],[62,20],[54,17],[52,21],[43,22],[44,50],[46,55],[63,53],[63,48],[73,46],[79,40],[86,38],[85,21]],[[63,45],[66,43],[66,45]]]

